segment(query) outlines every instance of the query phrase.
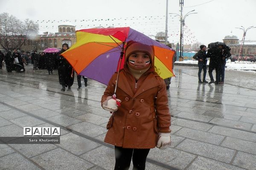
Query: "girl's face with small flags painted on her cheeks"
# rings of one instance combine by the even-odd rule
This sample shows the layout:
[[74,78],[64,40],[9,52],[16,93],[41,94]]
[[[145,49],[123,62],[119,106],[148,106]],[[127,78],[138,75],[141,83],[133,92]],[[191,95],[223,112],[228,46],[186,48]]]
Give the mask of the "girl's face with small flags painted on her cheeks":
[[143,68],[149,65],[150,57],[144,52],[136,52],[129,56],[129,64],[137,68]]

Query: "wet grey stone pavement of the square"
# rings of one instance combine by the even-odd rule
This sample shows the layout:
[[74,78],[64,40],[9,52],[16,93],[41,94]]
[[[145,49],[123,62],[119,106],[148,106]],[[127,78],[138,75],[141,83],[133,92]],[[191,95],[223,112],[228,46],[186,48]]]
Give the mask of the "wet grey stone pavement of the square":
[[[208,85],[198,84],[197,71],[175,66],[172,145],[151,149],[146,170],[256,170],[256,72],[226,71],[224,85]],[[113,169],[113,146],[103,142],[111,115],[99,102],[105,85],[89,79],[77,87],[75,77],[63,92],[57,71],[31,65],[25,73],[0,70],[0,137],[61,127],[60,144],[0,144],[0,170]]]

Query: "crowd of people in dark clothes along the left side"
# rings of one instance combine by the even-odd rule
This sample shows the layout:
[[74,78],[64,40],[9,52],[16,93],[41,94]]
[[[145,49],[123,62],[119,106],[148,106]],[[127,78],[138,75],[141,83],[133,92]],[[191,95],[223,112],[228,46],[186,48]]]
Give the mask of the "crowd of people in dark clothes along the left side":
[[[66,88],[70,89],[74,82],[73,67],[64,57],[61,56],[61,53],[66,51],[68,48],[68,44],[64,43],[61,51],[58,53],[38,53],[36,50],[32,53],[28,51],[21,51],[20,53],[15,49],[13,53],[8,51],[5,55],[0,51],[0,69],[2,69],[3,62],[6,64],[7,72],[12,72],[14,70],[22,72],[19,69],[25,71],[24,64],[32,64],[33,70],[46,69],[49,75],[53,74],[53,70],[58,69],[59,83],[62,86],[61,91],[65,91]],[[16,68],[17,65],[19,66],[19,69]],[[77,74],[77,90],[80,90],[82,87],[81,77],[84,79],[84,86],[87,87],[87,77]]]

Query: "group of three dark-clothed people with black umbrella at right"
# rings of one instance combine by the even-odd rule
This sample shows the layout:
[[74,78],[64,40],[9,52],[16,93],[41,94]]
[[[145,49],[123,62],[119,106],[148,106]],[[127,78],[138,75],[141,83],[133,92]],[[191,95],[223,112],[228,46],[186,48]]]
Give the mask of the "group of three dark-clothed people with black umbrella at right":
[[[206,53],[206,46],[201,45],[200,50],[193,56],[194,59],[198,60],[198,82],[208,83],[206,81],[207,74],[207,58],[210,58],[209,62],[209,84],[215,83],[215,85],[223,84],[225,77],[225,65],[226,59],[231,56],[230,47],[224,44],[211,43],[208,45],[208,51]],[[203,81],[201,80],[201,72],[203,73]],[[212,71],[215,70],[215,80],[212,76]]]

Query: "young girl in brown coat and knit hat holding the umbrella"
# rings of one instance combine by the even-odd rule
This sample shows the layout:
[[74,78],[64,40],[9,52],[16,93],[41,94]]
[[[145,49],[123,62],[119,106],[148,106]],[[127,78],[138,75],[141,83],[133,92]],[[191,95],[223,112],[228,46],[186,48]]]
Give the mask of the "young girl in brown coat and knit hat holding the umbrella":
[[[171,143],[171,115],[166,85],[154,71],[154,49],[130,41],[125,50],[125,66],[113,74],[102,96],[102,107],[111,111],[105,142],[115,145],[115,170],[145,170],[150,148],[165,149]],[[121,103],[120,103],[121,100]]]

